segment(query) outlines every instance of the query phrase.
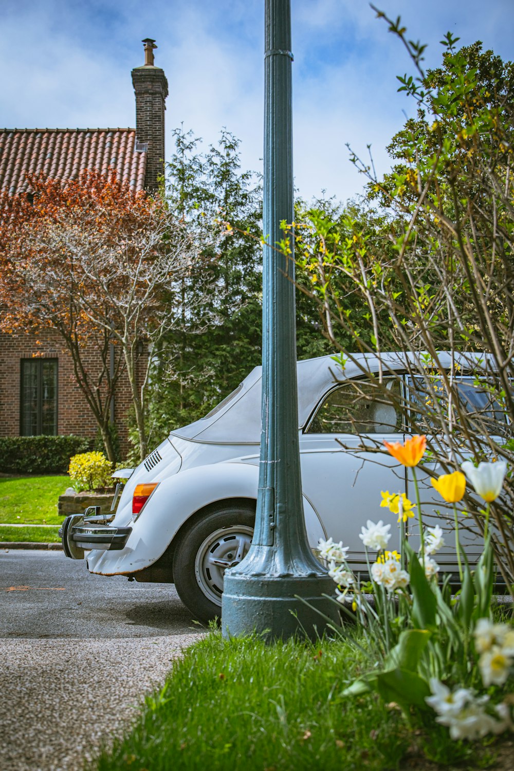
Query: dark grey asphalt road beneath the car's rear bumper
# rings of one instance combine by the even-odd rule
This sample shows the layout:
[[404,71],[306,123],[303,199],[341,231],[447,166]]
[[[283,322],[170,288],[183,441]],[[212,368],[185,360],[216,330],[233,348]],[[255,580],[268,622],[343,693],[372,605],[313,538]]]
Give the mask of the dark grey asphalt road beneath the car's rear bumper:
[[180,635],[197,625],[173,584],[88,573],[62,551],[0,551],[2,638]]

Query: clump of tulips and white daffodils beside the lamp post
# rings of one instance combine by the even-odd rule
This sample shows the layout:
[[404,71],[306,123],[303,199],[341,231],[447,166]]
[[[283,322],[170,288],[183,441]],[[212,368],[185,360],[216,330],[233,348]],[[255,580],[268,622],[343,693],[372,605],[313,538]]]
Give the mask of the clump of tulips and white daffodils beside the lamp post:
[[[423,527],[415,474],[425,452],[423,439],[414,436],[405,445],[385,443],[392,456],[412,469],[417,503],[404,494],[381,493],[381,507],[398,514],[399,554],[386,550],[390,524],[368,520],[361,528],[359,537],[365,545],[373,601],[348,566],[348,548],[332,539],[320,541],[321,557],[328,561],[329,575],[337,584],[334,601],[345,614],[351,614],[351,605],[374,659],[371,672],[352,683],[343,695],[376,690],[406,714],[412,706],[422,712],[432,709],[435,721],[448,726],[452,739],[479,739],[514,728],[514,693],[506,695],[502,690],[514,675],[514,627],[492,621],[494,573],[487,532],[489,504],[502,490],[506,463],[475,467],[466,462],[462,464],[465,475],[458,471],[432,481],[442,497],[453,503],[455,512],[461,590],[452,598],[449,577],[442,586],[438,584],[439,566],[433,558],[445,544],[442,528]],[[465,476],[486,503],[484,550],[473,573],[459,544],[455,507],[465,493]],[[418,508],[421,534],[417,554],[405,537],[407,517],[403,516],[404,512],[413,516],[414,508]],[[376,553],[373,561],[370,550]],[[361,648],[358,642],[354,645]]]

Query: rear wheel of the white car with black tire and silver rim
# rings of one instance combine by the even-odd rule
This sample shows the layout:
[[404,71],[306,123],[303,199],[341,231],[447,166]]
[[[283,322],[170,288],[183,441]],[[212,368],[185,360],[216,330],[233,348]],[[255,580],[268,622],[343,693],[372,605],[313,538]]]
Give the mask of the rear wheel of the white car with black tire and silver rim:
[[[173,579],[183,604],[199,621],[221,616],[222,563],[237,564],[254,534],[255,511],[233,503],[207,510],[184,527],[173,557]],[[239,558],[240,557],[240,558]],[[216,561],[218,564],[214,564]]]

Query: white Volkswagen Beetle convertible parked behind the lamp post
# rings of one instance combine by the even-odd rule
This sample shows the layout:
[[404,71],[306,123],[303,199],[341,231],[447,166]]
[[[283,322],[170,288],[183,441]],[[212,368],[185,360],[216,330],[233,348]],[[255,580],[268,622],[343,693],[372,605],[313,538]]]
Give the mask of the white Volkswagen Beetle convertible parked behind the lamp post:
[[[348,561],[358,570],[365,568],[361,526],[368,519],[388,517],[395,523],[380,508],[381,490],[408,494],[409,480],[393,458],[372,452],[384,439],[405,439],[394,406],[401,398],[402,380],[385,379],[391,404],[383,396],[374,401],[370,397],[376,389],[367,385],[363,372],[376,372],[378,359],[352,359],[344,370],[331,356],[298,362],[298,431],[311,548],[316,550],[320,538],[343,540],[350,548]],[[401,372],[397,355],[383,357],[382,363],[385,372]],[[352,387],[355,379],[361,396]],[[91,573],[174,583],[195,617],[207,621],[219,616],[223,573],[242,560],[253,534],[260,385],[261,368],[256,367],[207,416],[173,430],[143,463],[128,470],[116,515],[96,511],[89,516],[88,510],[85,516],[67,517],[60,531],[66,556],[86,557]],[[363,435],[369,453],[358,451]],[[433,497],[429,506],[435,506]],[[446,541],[439,563],[451,571],[451,534]],[[468,550],[470,561],[478,551]]]

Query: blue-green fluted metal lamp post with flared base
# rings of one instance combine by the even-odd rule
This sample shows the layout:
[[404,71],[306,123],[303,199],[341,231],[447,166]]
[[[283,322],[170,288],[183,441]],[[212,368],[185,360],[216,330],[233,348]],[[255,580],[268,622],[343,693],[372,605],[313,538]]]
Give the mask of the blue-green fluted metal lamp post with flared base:
[[[223,635],[311,637],[337,623],[334,584],[307,541],[298,444],[294,259],[277,250],[293,205],[291,0],[266,0],[262,428],[252,546],[226,571]],[[294,237],[291,234],[291,251]],[[305,602],[304,602],[305,601]],[[306,604],[306,602],[308,604]]]

